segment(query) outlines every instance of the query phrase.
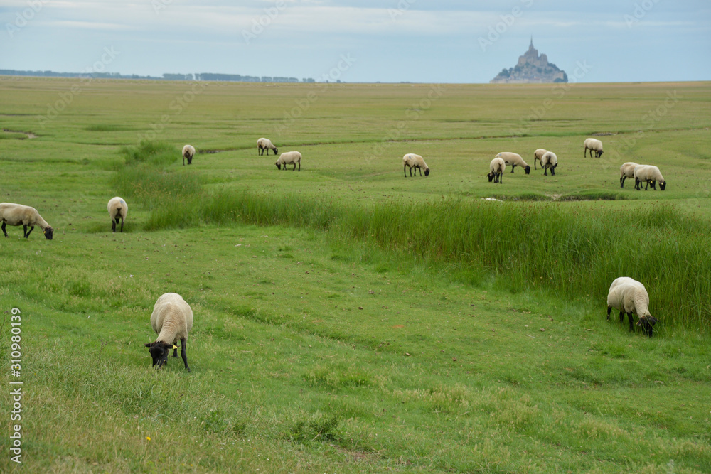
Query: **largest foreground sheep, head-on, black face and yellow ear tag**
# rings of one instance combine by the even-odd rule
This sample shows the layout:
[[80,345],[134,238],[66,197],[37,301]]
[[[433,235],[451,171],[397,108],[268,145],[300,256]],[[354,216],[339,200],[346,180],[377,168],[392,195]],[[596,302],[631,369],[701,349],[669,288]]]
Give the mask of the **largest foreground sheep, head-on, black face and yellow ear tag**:
[[178,293],[163,293],[153,307],[151,313],[151,326],[156,331],[158,337],[152,343],[146,344],[153,359],[154,367],[162,367],[168,362],[168,354],[173,349],[173,357],[178,357],[178,346],[176,343],[180,339],[181,357],[188,367],[188,356],[186,355],[186,339],[193,327],[193,310],[190,305],[183,300]]

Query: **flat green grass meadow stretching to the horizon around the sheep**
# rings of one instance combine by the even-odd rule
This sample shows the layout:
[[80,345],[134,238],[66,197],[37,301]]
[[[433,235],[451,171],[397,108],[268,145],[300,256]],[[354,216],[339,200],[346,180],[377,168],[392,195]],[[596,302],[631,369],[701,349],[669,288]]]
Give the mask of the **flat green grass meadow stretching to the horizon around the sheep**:
[[[711,470],[711,83],[2,77],[0,104],[0,201],[55,229],[0,239],[2,472]],[[538,148],[555,176],[488,182]],[[625,161],[666,190],[620,188]],[[653,338],[606,321],[617,276]],[[167,291],[190,373],[144,348]]]

